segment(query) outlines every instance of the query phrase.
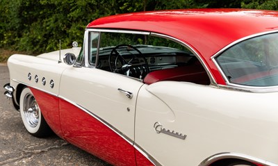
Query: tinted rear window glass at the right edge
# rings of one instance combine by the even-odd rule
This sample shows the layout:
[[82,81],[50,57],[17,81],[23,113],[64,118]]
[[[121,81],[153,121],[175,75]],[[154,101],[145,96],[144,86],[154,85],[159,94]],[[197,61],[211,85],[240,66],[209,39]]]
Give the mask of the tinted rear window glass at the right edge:
[[278,85],[278,33],[244,40],[224,51],[216,61],[229,83]]

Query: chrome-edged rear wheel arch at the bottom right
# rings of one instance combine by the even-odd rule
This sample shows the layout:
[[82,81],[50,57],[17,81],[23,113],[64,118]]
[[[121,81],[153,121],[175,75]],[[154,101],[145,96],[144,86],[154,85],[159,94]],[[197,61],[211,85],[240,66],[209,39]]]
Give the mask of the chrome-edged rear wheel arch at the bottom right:
[[236,162],[246,162],[254,166],[277,166],[274,163],[270,163],[259,158],[254,158],[252,156],[247,156],[240,153],[217,153],[213,156],[210,156],[202,161],[199,166],[222,166],[223,164],[233,164]]

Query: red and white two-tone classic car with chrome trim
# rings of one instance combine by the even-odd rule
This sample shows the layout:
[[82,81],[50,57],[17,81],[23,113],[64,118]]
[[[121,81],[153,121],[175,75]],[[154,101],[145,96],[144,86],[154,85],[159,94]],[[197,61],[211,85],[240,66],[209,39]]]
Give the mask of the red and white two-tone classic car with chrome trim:
[[276,11],[103,17],[81,48],[16,54],[8,68],[28,133],[112,165],[278,165]]

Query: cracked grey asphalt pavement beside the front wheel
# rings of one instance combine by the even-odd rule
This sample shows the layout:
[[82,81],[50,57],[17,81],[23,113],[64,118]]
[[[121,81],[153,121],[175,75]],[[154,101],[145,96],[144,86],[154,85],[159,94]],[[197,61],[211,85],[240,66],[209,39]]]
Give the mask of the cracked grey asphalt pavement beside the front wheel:
[[8,67],[0,64],[0,165],[108,165],[56,135],[35,138],[27,133],[20,113],[3,95],[8,82]]

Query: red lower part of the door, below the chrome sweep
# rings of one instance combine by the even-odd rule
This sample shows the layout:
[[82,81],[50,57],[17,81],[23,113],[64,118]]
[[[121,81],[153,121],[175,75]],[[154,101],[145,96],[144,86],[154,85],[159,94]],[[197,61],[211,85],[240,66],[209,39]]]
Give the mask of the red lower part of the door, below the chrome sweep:
[[64,138],[112,165],[136,165],[135,149],[97,119],[60,99]]

